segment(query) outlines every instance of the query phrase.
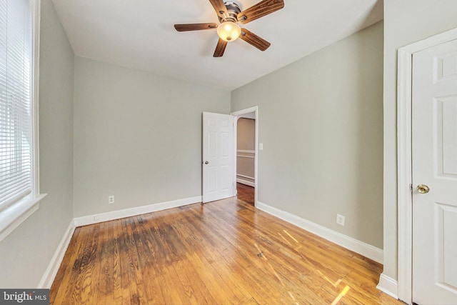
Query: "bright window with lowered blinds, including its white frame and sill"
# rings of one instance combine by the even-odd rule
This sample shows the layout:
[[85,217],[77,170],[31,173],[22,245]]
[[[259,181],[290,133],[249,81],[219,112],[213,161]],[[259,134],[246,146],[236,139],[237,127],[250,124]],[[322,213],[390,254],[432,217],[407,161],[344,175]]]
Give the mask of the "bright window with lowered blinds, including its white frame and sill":
[[0,240],[38,209],[39,0],[0,0]]

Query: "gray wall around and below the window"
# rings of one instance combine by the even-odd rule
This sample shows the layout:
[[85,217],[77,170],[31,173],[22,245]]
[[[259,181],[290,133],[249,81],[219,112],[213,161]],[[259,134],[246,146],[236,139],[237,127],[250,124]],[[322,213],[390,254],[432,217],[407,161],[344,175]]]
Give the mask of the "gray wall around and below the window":
[[73,219],[74,54],[51,0],[41,0],[40,208],[0,241],[0,287],[34,288]]

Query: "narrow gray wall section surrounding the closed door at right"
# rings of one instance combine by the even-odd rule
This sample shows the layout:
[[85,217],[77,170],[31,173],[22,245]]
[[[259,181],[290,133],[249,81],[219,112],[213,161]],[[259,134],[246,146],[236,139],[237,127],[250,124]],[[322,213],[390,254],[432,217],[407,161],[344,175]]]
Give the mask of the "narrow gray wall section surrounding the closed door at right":
[[455,0],[384,0],[384,271],[397,279],[397,50],[457,26]]

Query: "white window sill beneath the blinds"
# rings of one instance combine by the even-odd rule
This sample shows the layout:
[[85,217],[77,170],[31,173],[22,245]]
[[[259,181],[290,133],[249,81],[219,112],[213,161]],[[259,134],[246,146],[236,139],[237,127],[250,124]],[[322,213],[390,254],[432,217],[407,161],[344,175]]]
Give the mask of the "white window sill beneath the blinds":
[[24,199],[17,204],[0,211],[0,241],[22,224],[39,208],[41,199],[47,194],[39,194],[30,199]]

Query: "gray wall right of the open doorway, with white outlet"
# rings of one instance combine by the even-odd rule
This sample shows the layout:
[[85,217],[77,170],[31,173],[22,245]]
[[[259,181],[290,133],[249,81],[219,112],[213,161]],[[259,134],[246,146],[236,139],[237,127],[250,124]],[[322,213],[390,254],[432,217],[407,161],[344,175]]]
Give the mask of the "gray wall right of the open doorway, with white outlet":
[[382,248],[382,22],[231,95],[258,105],[258,201]]

